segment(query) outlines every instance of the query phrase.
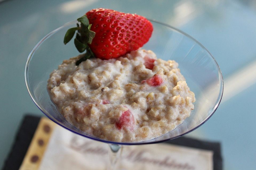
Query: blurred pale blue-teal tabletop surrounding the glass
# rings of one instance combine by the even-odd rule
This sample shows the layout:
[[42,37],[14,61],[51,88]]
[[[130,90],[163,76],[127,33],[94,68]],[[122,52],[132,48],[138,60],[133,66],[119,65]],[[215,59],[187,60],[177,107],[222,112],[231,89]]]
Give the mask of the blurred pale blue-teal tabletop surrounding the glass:
[[0,167],[23,115],[43,116],[25,85],[30,51],[53,29],[99,7],[170,24],[210,51],[222,70],[223,99],[213,116],[187,136],[221,142],[224,169],[255,169],[256,2],[249,0],[0,2]]

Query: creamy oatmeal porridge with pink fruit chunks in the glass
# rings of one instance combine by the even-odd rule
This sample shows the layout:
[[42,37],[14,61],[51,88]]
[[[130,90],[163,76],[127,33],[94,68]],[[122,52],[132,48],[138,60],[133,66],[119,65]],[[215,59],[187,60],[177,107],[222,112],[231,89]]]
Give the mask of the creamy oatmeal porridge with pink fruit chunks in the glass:
[[[82,54],[83,55],[83,54]],[[123,57],[64,60],[47,90],[68,122],[87,134],[117,141],[144,141],[181,124],[195,95],[175,61],[138,49]]]

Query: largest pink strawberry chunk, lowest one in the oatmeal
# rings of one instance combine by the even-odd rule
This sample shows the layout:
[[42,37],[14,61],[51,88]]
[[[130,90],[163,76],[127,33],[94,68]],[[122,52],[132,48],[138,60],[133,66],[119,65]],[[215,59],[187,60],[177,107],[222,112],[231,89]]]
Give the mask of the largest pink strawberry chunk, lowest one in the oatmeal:
[[129,130],[133,129],[134,126],[134,117],[130,110],[127,110],[122,113],[119,117],[118,122],[115,123],[117,129],[128,128]]

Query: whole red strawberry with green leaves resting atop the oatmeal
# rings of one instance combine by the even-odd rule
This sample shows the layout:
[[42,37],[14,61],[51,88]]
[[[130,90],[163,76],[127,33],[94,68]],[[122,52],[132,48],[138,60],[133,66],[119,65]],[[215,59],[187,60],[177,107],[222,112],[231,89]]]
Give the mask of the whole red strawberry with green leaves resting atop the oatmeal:
[[142,47],[153,31],[150,21],[142,16],[104,8],[90,10],[77,20],[80,27],[67,31],[64,44],[78,30],[74,43],[79,52],[87,50],[86,58],[93,55],[101,59],[120,57]]

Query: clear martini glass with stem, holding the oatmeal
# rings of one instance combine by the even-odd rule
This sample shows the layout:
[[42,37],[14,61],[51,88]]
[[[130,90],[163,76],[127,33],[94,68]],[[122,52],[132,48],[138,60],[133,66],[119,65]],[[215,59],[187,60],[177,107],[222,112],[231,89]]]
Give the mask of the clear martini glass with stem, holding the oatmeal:
[[79,53],[73,43],[63,44],[67,29],[76,27],[77,21],[66,23],[39,41],[27,59],[25,81],[28,92],[37,107],[52,121],[78,135],[101,141],[110,146],[109,169],[117,168],[122,146],[165,142],[187,134],[206,122],[217,109],[223,94],[221,70],[208,50],[197,40],[170,25],[150,20],[154,31],[142,48],[152,50],[158,58],[175,60],[186,78],[190,90],[195,93],[195,109],[182,124],[160,137],[140,142],[113,142],[94,137],[77,129],[65,120],[51,101],[47,89],[50,73],[63,60]]

